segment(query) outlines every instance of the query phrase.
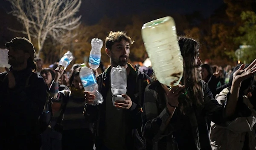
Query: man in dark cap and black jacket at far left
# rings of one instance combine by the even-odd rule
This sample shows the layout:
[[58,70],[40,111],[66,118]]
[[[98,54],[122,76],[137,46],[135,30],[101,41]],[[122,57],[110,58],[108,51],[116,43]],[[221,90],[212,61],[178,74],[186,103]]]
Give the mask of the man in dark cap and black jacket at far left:
[[39,150],[39,116],[47,100],[44,79],[32,71],[35,49],[25,37],[5,44],[10,68],[0,74],[0,150]]

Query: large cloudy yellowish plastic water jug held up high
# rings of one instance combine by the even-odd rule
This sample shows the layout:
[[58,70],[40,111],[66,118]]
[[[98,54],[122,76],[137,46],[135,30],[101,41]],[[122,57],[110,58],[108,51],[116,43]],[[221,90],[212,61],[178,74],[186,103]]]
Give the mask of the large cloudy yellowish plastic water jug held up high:
[[145,23],[142,37],[157,80],[170,87],[178,85],[183,76],[183,57],[174,19],[163,17]]

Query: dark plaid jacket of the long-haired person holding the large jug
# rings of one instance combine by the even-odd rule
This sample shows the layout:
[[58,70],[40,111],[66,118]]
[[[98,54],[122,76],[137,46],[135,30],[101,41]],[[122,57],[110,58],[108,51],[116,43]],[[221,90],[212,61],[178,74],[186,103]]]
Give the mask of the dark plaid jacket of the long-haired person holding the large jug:
[[[175,133],[186,132],[184,127],[188,126],[192,131],[192,145],[189,145],[191,142],[186,141],[184,146],[190,147],[190,149],[194,146],[197,150],[211,150],[206,117],[218,125],[227,126],[237,117],[250,116],[251,111],[244,105],[242,99],[239,99],[236,113],[230,118],[225,118],[225,105],[218,104],[205,82],[201,81],[201,84],[204,91],[203,107],[192,108],[191,113],[187,114],[190,119],[187,122],[185,122],[187,119],[181,119],[184,115],[178,108],[168,125],[165,122],[170,116],[163,88],[158,81],[152,82],[146,87],[143,124],[147,150],[178,150],[176,143],[180,143],[180,141],[175,138]],[[183,99],[182,96],[180,98]]]

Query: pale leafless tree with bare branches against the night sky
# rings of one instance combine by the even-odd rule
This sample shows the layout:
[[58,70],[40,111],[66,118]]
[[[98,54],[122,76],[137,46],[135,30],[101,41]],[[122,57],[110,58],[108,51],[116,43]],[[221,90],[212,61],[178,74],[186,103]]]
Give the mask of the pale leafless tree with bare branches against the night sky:
[[[81,16],[75,17],[81,0],[8,0],[13,16],[23,24],[23,31],[31,41],[37,40],[39,57],[47,37],[61,38],[80,25]],[[55,39],[57,40],[57,39]]]

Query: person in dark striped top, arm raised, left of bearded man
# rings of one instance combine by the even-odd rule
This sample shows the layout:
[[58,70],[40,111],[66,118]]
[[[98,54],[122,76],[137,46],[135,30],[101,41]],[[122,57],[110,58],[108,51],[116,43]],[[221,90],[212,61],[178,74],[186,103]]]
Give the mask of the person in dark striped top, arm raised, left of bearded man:
[[64,67],[55,69],[56,76],[50,87],[53,96],[51,132],[44,138],[43,150],[52,150],[49,147],[57,147],[58,150],[93,150],[92,124],[83,115],[85,99],[80,70],[81,67],[73,71],[69,88],[61,90],[58,81],[64,73]]

